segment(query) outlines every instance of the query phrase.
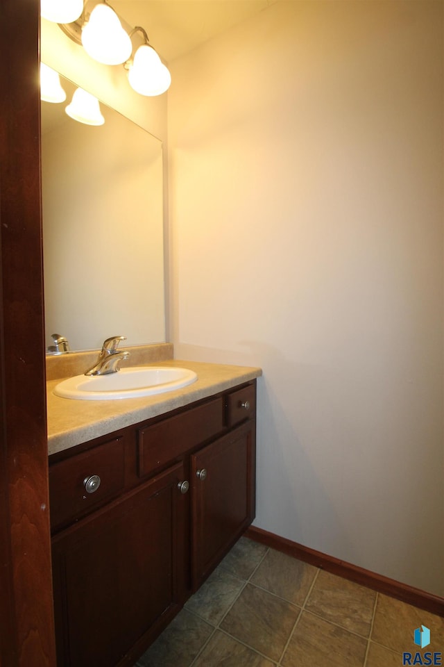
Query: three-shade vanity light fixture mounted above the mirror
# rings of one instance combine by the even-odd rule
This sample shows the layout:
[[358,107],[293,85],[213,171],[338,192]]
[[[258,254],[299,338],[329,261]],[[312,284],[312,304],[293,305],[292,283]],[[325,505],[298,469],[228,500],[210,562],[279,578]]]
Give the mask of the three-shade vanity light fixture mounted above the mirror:
[[[77,1],[65,0],[62,3],[76,3],[71,16],[78,12]],[[54,0],[42,1],[42,16],[58,23],[62,31],[76,44],[82,44],[97,62],[103,65],[123,64],[128,70],[128,81],[133,90],[147,97],[155,97],[168,90],[171,74],[149,43],[144,28],[136,26],[128,33],[106,0],[86,0],[82,3],[80,14],[67,21],[60,21],[58,8],[51,9],[53,3]],[[138,33],[142,33],[144,41],[135,47],[133,56],[132,38],[137,38]]]

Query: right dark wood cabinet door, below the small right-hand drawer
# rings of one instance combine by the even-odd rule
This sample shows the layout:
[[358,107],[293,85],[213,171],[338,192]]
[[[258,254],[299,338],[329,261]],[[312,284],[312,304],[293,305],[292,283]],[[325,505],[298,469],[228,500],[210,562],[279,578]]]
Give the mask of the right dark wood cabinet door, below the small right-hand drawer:
[[193,586],[255,518],[255,420],[191,456]]

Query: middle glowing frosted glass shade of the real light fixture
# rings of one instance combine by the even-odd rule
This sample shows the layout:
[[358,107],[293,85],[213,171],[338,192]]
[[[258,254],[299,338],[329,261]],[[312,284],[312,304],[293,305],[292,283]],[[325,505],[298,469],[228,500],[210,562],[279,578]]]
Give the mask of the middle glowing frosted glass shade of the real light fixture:
[[83,27],[82,44],[91,58],[103,65],[121,65],[133,50],[130,35],[123,30],[112,7],[101,3]]

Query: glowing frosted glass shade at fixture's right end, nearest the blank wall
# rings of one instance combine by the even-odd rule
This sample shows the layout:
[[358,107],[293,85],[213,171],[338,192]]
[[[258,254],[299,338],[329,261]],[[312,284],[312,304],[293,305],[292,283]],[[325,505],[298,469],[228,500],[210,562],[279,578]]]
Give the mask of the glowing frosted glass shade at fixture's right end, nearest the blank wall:
[[131,88],[141,95],[155,97],[168,90],[171,74],[149,44],[142,44],[135,52],[133,65],[128,70]]

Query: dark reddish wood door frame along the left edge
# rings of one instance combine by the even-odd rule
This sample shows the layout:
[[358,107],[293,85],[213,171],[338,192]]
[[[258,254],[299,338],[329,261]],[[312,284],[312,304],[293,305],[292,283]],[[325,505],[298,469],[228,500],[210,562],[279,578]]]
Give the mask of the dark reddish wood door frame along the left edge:
[[55,667],[38,0],[1,0],[0,667]]

